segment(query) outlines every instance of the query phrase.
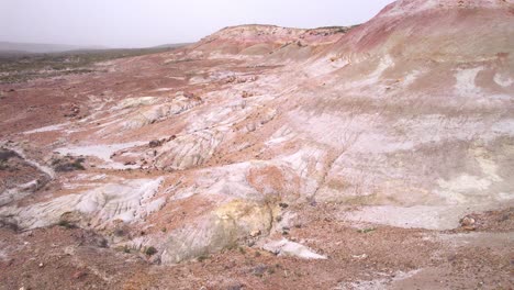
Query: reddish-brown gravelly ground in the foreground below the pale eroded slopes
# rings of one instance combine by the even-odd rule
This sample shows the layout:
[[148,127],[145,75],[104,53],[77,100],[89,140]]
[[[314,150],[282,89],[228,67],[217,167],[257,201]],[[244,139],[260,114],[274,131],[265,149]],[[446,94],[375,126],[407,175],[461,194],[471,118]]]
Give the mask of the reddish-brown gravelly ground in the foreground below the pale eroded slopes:
[[[476,231],[349,226],[312,207],[287,238],[328,257],[277,257],[247,246],[178,266],[109,248],[92,232],[4,228],[1,289],[512,289],[514,212],[476,215]],[[489,226],[494,224],[494,226]],[[7,246],[9,245],[9,246]]]

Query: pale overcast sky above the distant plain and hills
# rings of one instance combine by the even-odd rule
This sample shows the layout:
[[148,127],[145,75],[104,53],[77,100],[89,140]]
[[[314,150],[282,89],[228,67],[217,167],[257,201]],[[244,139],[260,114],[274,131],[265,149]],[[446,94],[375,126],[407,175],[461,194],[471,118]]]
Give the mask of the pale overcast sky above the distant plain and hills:
[[0,0],[0,41],[107,47],[190,43],[241,24],[353,25],[392,0]]

